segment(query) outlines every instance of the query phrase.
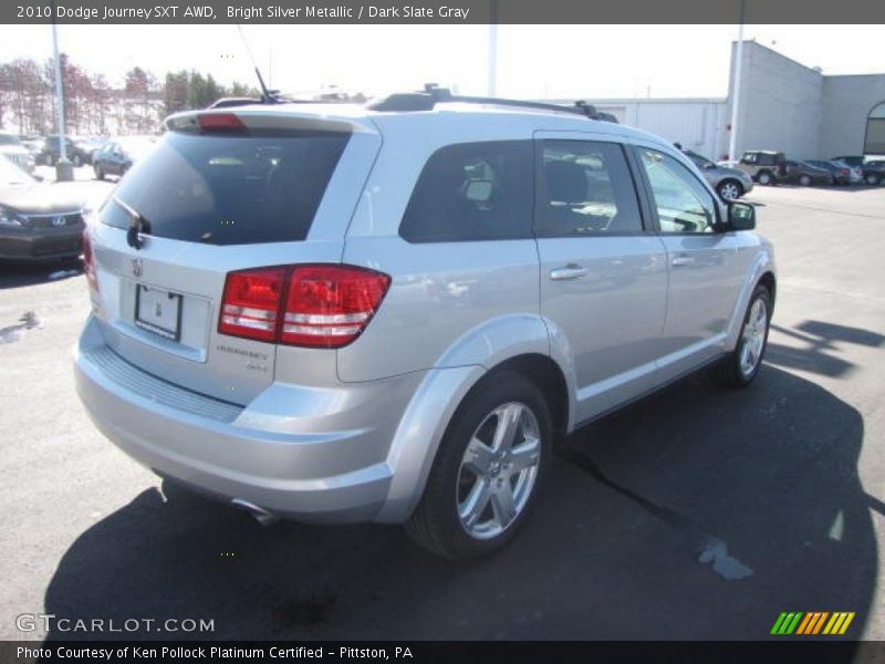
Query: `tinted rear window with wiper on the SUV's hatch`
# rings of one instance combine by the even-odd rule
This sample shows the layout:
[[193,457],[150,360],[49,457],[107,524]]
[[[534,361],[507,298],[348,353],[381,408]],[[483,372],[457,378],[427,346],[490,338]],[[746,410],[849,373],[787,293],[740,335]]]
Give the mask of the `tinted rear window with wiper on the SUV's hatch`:
[[303,240],[348,139],[342,132],[169,132],[121,180],[103,220],[128,228],[128,206],[162,238],[207,245]]

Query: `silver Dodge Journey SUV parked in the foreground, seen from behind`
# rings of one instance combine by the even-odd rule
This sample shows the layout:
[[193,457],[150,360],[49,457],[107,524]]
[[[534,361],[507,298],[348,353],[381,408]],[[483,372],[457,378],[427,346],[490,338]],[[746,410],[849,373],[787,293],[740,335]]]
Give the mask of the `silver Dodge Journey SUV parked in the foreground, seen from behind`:
[[771,246],[660,138],[425,93],[166,126],[90,220],[77,390],[127,454],[261,521],[489,553],[566,434],[759,371]]

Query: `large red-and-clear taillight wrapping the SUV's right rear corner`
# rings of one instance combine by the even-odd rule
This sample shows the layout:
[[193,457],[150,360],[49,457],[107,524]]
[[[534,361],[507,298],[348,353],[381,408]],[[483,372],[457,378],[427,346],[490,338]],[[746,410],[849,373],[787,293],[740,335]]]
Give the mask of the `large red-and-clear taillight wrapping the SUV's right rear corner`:
[[347,266],[290,266],[230,272],[218,331],[309,347],[351,343],[374,315],[391,278]]

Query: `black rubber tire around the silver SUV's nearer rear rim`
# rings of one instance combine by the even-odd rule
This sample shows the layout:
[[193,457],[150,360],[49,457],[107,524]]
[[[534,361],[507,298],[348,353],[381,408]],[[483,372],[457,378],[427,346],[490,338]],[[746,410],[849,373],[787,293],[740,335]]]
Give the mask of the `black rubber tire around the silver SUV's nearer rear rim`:
[[[511,403],[527,406],[537,419],[540,438],[538,469],[528,498],[516,518],[497,536],[478,539],[468,533],[458,515],[461,463],[480,425],[496,408]],[[500,550],[521,530],[534,506],[544,478],[552,438],[550,408],[538,386],[516,372],[490,374],[470,391],[452,416],[439,444],[424,496],[405,523],[406,532],[425,549],[450,560],[476,559]]]

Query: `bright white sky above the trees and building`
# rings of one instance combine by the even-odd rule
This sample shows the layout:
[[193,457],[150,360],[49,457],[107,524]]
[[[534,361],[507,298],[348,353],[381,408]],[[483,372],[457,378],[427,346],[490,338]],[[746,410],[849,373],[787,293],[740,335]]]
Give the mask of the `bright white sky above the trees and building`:
[[[49,25],[1,27],[0,62],[52,55]],[[485,94],[488,25],[243,25],[271,87],[381,94],[435,82]],[[747,25],[754,39],[825,74],[885,73],[882,25]],[[499,96],[725,97],[737,25],[500,25]],[[119,84],[139,65],[254,83],[235,25],[60,25],[60,49]]]

